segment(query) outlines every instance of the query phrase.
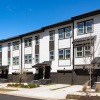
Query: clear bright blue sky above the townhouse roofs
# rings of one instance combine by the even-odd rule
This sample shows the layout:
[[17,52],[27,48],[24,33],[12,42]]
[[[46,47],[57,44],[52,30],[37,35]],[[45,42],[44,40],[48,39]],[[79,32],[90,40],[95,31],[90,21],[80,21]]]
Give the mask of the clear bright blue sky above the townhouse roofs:
[[0,39],[100,9],[100,0],[0,0]]

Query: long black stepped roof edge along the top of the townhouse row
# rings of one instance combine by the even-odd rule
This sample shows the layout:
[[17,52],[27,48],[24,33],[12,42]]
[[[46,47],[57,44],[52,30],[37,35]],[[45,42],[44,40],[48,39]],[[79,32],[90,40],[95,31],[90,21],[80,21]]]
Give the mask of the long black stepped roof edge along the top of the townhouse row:
[[10,38],[7,38],[7,39],[2,39],[2,40],[0,40],[0,43],[8,42],[8,41],[16,40],[16,39],[20,39],[21,37],[32,35],[32,34],[41,33],[41,32],[44,32],[44,30],[46,30],[46,29],[58,27],[58,26],[61,26],[61,25],[70,24],[74,20],[82,19],[82,18],[85,18],[85,17],[97,15],[97,14],[100,14],[100,9],[94,10],[94,11],[91,11],[91,12],[88,12],[88,13],[85,13],[85,14],[81,14],[81,15],[78,15],[78,16],[75,16],[75,17],[72,17],[71,19],[68,19],[68,20],[65,20],[65,21],[61,21],[61,22],[58,22],[58,23],[55,23],[55,24],[52,24],[52,25],[48,25],[48,26],[42,27],[40,29],[31,31],[31,32],[28,32],[28,33],[25,33],[25,34],[22,34],[22,35],[10,37]]

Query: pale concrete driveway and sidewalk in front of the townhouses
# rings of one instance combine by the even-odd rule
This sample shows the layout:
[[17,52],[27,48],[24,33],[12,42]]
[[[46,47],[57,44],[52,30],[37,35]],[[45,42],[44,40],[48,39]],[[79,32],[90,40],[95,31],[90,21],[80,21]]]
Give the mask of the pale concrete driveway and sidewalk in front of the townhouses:
[[[1,85],[0,85],[1,86]],[[5,84],[2,84],[4,88]],[[5,87],[7,88],[7,87]],[[63,100],[66,98],[67,94],[74,93],[76,91],[82,90],[81,85],[66,85],[66,84],[54,84],[54,85],[42,85],[38,88],[25,89],[25,88],[11,88],[17,91],[5,92],[9,95],[17,95],[30,98],[39,98],[44,100]]]

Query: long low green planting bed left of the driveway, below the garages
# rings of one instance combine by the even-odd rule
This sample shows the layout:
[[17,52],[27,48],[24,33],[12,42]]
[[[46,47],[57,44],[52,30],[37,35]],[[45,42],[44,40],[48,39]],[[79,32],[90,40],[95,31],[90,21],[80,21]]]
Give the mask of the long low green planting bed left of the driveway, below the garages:
[[18,88],[36,88],[39,87],[38,84],[21,84],[21,83],[15,83],[15,84],[8,84],[7,87],[18,87]]

